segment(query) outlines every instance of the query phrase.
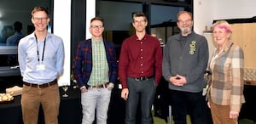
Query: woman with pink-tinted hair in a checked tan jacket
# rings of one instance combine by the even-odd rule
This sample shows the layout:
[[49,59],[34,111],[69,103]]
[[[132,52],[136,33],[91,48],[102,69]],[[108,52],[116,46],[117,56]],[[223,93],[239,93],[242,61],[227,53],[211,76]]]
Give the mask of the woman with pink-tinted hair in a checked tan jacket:
[[231,41],[232,31],[225,20],[213,24],[213,40],[218,47],[210,62],[212,82],[207,92],[214,124],[237,124],[243,96],[244,54]]

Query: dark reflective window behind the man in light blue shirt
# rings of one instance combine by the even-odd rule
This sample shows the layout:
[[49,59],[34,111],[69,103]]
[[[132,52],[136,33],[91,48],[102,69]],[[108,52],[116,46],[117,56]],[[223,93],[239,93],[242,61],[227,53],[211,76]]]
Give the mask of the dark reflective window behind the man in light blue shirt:
[[[31,11],[35,6],[48,8],[52,16],[51,0],[1,0],[0,4],[0,92],[6,87],[21,85],[17,59],[17,45],[21,37],[32,33]],[[49,23],[49,27],[52,24]],[[15,33],[15,30],[20,33]],[[52,27],[49,28],[49,31]],[[16,37],[12,37],[15,35]]]

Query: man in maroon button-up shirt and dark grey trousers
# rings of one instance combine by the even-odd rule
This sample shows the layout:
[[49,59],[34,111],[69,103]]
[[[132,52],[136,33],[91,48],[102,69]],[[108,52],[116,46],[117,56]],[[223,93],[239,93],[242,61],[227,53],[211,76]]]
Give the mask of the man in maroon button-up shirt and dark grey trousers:
[[126,100],[125,124],[136,123],[137,104],[141,102],[142,124],[152,124],[151,107],[162,76],[160,42],[146,33],[148,20],[142,12],[132,15],[136,34],[122,44],[119,55],[121,97]]

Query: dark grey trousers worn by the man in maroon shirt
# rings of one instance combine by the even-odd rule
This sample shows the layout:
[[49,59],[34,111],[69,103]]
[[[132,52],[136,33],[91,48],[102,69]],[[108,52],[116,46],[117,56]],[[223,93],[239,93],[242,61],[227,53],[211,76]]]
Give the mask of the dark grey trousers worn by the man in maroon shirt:
[[127,78],[129,89],[128,99],[126,102],[125,124],[135,124],[137,114],[137,104],[141,102],[141,124],[152,124],[151,108],[154,102],[156,84],[154,78],[144,81],[135,81],[133,78]]

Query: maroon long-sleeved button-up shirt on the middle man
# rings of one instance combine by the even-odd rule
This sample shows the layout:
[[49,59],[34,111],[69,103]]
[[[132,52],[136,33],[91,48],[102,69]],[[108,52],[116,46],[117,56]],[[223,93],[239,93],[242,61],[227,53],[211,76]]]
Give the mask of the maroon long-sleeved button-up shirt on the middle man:
[[127,77],[154,76],[156,84],[162,76],[162,48],[160,42],[146,34],[142,40],[136,35],[122,43],[119,55],[119,80],[122,88],[127,87]]

